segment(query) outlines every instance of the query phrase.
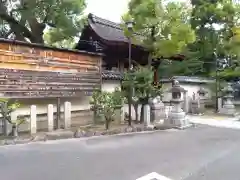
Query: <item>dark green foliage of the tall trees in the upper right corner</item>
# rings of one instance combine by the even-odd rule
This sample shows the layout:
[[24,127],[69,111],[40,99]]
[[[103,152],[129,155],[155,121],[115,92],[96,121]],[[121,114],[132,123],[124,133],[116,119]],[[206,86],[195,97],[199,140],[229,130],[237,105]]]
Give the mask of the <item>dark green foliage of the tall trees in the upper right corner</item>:
[[229,0],[191,0],[191,3],[196,41],[188,47],[188,58],[202,62],[198,75],[209,75],[215,70],[213,51],[216,49],[218,57],[224,58],[236,48],[230,46],[230,41],[233,29],[239,26],[239,4]]

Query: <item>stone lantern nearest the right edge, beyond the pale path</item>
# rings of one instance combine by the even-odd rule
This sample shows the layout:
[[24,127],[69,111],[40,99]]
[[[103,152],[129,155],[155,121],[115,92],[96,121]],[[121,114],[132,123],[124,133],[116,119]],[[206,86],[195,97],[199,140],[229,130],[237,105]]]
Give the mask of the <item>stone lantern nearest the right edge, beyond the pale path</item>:
[[224,96],[223,96],[223,107],[220,110],[221,114],[224,115],[236,115],[236,109],[232,102],[233,99],[233,88],[231,87],[231,84],[228,83],[228,85],[222,90]]

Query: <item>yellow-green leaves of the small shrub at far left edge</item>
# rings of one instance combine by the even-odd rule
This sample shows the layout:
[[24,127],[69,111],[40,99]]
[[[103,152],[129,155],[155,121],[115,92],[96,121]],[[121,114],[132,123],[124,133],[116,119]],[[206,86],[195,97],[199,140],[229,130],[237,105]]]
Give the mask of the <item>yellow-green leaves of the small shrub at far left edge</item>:
[[23,118],[17,117],[16,120],[11,119],[11,113],[17,110],[20,107],[18,101],[13,99],[0,99],[0,114],[4,121],[8,121],[10,124],[19,126],[24,123],[25,120]]

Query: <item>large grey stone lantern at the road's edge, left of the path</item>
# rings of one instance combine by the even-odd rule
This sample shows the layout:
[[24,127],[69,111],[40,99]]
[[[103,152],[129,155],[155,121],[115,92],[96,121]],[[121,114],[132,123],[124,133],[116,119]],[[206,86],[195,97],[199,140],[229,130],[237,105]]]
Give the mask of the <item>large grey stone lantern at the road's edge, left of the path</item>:
[[173,108],[169,113],[168,119],[165,120],[165,124],[170,127],[180,128],[188,126],[189,122],[186,119],[186,113],[181,108],[181,103],[183,102],[181,94],[186,92],[186,90],[180,86],[178,81],[175,81],[169,92],[172,93],[171,104]]

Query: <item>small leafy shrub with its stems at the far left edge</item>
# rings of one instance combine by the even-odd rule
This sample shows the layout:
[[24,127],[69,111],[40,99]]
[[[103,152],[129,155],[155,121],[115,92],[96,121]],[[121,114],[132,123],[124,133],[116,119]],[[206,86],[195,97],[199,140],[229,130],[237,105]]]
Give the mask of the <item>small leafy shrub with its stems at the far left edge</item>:
[[11,118],[11,113],[20,107],[20,103],[12,99],[0,99],[0,114],[4,123],[5,135],[7,135],[7,122],[12,124],[11,135],[18,136],[18,127],[25,122],[25,120],[17,116],[16,120]]

